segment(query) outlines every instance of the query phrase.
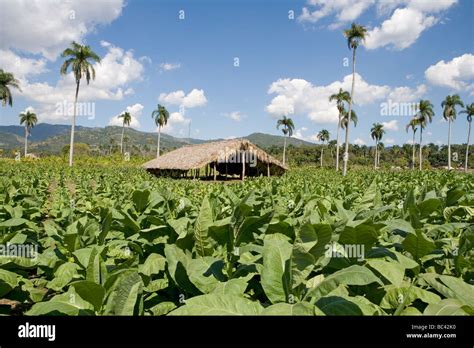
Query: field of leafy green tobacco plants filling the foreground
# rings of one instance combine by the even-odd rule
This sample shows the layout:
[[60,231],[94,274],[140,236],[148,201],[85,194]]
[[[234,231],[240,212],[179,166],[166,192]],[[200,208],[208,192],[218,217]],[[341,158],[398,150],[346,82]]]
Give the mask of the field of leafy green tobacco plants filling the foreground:
[[[8,315],[472,315],[472,175],[0,167]],[[357,253],[356,253],[357,252]]]

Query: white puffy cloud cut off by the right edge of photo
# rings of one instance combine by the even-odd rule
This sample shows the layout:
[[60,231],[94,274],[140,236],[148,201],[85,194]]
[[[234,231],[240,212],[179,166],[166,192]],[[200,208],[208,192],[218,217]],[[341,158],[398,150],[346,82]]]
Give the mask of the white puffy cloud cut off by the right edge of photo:
[[474,55],[470,53],[445,62],[439,61],[425,71],[426,79],[433,85],[450,87],[455,90],[471,89],[474,85]]

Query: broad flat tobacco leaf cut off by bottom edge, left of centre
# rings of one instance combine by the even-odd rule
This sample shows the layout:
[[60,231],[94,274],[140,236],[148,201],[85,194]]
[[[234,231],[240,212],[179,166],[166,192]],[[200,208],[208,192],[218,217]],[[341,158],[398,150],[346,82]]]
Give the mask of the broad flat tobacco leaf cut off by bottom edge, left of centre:
[[190,298],[168,315],[259,315],[258,302],[234,295],[208,294]]

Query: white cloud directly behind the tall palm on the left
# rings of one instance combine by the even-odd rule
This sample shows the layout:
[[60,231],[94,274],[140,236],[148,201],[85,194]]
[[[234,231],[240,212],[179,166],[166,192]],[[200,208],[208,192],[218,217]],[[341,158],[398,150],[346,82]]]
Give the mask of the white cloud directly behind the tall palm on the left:
[[[133,52],[124,51],[111,44],[107,45],[107,54],[101,63],[94,63],[96,79],[90,84],[82,80],[79,90],[79,102],[94,102],[96,100],[121,100],[133,93],[129,85],[140,81],[143,65],[134,58]],[[32,100],[39,105],[39,115],[42,120],[64,120],[69,116],[56,113],[57,103],[72,103],[75,93],[75,79],[72,73],[61,76],[56,85],[46,82],[30,83],[22,81],[22,97]]]

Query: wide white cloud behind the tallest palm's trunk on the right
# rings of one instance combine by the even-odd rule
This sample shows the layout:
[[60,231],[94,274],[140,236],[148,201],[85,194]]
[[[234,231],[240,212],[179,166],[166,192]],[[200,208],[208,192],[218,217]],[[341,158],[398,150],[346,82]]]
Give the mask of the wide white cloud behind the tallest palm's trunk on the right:
[[[387,85],[372,85],[365,81],[359,74],[356,77],[356,92],[354,105],[358,106],[372,104],[379,100],[392,98],[393,101],[412,100],[421,95],[426,87],[419,86],[416,89],[409,87],[392,88]],[[273,82],[268,94],[276,96],[266,106],[266,111],[274,116],[287,116],[292,114],[306,115],[315,123],[337,123],[339,112],[335,102],[329,102],[329,96],[337,93],[339,88],[350,90],[352,75],[347,75],[342,81],[335,81],[326,86],[315,86],[303,79],[279,79]]]

